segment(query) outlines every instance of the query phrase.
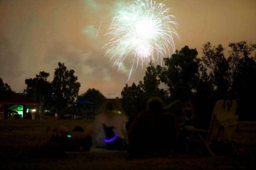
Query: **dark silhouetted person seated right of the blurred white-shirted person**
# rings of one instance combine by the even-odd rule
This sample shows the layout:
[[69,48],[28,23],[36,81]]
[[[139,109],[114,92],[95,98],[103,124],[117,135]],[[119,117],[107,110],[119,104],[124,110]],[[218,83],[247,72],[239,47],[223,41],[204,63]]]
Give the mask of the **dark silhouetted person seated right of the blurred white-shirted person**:
[[133,120],[128,131],[131,157],[169,156],[176,147],[178,125],[173,114],[163,110],[160,98],[150,98],[147,110]]

